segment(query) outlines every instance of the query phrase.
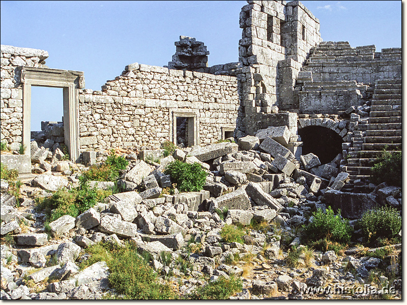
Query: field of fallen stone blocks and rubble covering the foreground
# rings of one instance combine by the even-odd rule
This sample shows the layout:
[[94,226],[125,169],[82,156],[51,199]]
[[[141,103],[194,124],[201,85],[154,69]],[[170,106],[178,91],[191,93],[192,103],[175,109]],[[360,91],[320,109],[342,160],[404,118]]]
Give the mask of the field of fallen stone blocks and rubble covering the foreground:
[[[169,283],[180,298],[222,277],[242,280],[242,291],[230,299],[369,298],[357,293],[305,293],[313,287],[368,284],[370,271],[383,262],[361,256],[358,248],[347,248],[342,255],[313,251],[306,256],[303,252],[296,266],[289,264],[292,246],[307,248],[298,228],[312,221],[312,212],[326,210],[329,198],[343,196],[346,200],[346,193],[340,190],[348,174],[339,170],[341,155],[328,164],[321,164],[313,154],[301,156],[298,162],[282,145],[288,140],[289,133],[283,128],[268,128],[257,136],[240,138],[238,143],[175,149],[168,157],[163,157],[163,150],[143,150],[139,155],[127,151],[123,156],[129,165],[117,181],[124,192],[108,196],[76,218],[62,216],[48,228],[35,198],[72,189],[88,167],[63,161],[59,148],[52,153],[32,142],[33,172],[38,175],[24,182],[18,200],[9,194],[8,182],[1,181],[1,299],[114,295],[106,262],[79,266],[90,256],[86,249],[98,242],[117,247],[128,242],[139,254],[149,253],[159,281]],[[90,161],[101,162],[106,156],[100,151]],[[164,169],[174,160],[197,162],[207,171],[203,190],[164,191],[173,183]],[[91,186],[111,189],[114,182],[91,181]],[[400,188],[368,187],[372,192],[359,194],[365,196],[361,200],[369,197],[401,205]],[[354,225],[360,212],[352,215],[349,211],[348,217]],[[245,230],[243,243],[224,241],[222,228],[230,225]],[[401,244],[392,245],[391,250],[392,256],[400,256]],[[169,262],[163,262],[163,253],[168,254]],[[192,268],[177,268],[179,257]],[[393,298],[401,299],[401,270],[398,264],[387,268],[399,276],[389,284],[396,288]],[[388,279],[382,276],[379,280],[386,283]]]

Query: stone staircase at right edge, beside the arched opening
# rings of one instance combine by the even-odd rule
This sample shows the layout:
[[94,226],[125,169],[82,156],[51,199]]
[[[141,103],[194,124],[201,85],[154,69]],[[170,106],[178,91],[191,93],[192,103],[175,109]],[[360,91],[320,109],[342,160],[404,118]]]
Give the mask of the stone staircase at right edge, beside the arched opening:
[[376,81],[369,118],[359,119],[351,143],[342,169],[350,179],[342,190],[363,192],[377,154],[401,149],[401,79]]

